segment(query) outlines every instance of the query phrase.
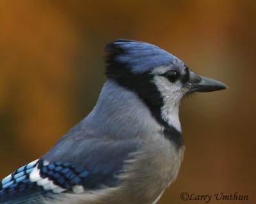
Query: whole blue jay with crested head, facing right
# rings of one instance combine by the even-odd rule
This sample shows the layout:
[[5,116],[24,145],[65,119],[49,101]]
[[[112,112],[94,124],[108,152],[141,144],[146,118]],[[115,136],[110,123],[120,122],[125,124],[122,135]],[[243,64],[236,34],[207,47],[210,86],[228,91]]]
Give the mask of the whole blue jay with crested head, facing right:
[[106,77],[92,112],[40,159],[0,182],[0,203],[157,203],[184,154],[180,100],[227,86],[163,49],[108,43]]

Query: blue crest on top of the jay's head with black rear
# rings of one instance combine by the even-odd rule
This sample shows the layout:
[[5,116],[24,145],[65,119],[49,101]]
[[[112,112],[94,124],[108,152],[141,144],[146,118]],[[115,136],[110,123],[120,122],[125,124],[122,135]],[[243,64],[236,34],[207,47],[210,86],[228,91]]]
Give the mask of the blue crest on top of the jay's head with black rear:
[[[106,45],[107,76],[115,75],[120,67],[133,74],[152,71],[153,68],[172,64],[177,57],[165,50],[140,41],[116,40]],[[115,76],[114,76],[115,77]]]

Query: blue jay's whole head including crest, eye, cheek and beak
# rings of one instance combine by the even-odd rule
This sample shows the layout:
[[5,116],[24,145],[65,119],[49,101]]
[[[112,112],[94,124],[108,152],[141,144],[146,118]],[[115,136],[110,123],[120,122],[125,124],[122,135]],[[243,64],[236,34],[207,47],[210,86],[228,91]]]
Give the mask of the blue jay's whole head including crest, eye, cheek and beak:
[[164,112],[179,110],[186,94],[227,89],[225,84],[196,74],[174,55],[149,43],[116,40],[108,43],[105,51],[107,77],[136,92],[161,123],[167,120]]

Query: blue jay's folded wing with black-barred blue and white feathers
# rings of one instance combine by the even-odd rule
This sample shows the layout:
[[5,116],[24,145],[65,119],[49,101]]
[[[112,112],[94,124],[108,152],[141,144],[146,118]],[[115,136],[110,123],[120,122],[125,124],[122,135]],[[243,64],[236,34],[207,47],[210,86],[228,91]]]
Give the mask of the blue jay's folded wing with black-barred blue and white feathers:
[[0,183],[0,203],[43,203],[61,193],[113,187],[136,140],[64,138],[41,159],[22,166]]

